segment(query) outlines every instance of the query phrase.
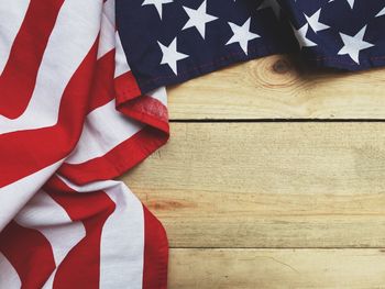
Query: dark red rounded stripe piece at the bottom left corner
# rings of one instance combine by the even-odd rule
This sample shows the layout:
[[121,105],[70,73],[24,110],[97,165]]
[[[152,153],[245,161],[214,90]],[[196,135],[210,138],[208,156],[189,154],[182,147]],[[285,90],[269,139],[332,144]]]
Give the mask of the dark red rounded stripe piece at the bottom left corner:
[[45,236],[15,222],[1,232],[0,251],[19,274],[22,289],[42,288],[55,269],[53,251]]

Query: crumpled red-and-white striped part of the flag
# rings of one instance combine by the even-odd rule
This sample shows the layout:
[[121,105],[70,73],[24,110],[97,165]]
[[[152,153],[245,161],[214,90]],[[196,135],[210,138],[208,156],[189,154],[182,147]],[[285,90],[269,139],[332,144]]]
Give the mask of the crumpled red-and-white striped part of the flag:
[[161,223],[120,181],[168,138],[114,0],[0,0],[0,288],[166,288]]

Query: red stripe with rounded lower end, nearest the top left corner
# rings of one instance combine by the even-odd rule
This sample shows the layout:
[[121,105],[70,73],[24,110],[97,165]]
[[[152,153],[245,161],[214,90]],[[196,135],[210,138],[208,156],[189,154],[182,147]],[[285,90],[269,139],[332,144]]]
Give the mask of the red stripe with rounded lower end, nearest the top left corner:
[[63,2],[64,0],[31,0],[0,77],[0,114],[16,119],[26,109]]

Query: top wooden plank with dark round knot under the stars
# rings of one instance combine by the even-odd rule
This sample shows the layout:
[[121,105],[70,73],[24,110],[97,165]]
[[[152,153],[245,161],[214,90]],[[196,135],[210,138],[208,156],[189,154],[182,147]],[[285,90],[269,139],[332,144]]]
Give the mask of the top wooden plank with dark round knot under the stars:
[[385,69],[306,69],[283,55],[173,87],[170,119],[384,119]]

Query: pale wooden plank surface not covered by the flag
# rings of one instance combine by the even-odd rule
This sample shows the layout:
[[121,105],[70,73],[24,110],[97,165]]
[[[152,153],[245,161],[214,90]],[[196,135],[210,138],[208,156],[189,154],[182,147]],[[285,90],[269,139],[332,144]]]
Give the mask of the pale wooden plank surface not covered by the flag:
[[169,89],[172,138],[123,177],[169,288],[385,288],[385,69],[272,56]]

